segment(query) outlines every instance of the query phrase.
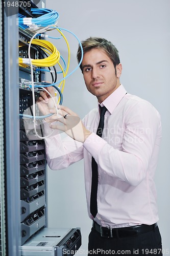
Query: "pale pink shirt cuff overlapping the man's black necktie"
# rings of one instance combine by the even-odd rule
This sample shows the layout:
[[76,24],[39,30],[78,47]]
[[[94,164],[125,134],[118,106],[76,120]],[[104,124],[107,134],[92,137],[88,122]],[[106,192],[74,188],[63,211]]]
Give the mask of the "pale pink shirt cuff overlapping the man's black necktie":
[[91,133],[83,143],[83,146],[93,156],[94,159],[98,159],[99,152],[106,144],[107,141],[105,141],[95,133]]

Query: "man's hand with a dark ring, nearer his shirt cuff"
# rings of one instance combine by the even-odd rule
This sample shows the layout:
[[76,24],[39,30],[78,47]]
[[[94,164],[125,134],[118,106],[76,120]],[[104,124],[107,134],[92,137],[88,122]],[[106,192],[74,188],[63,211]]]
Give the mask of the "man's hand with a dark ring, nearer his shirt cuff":
[[72,139],[82,143],[84,143],[87,137],[91,134],[91,132],[83,125],[80,117],[66,106],[58,106],[59,115],[55,114],[56,112],[54,109],[50,110],[50,113],[54,113],[54,115],[51,116],[51,122],[56,121],[56,123],[50,124],[52,129],[63,131]]

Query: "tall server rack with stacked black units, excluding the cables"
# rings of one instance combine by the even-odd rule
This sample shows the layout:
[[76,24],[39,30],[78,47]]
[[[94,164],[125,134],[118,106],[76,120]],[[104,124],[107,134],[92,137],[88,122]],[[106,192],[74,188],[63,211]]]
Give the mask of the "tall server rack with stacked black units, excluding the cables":
[[[24,1],[28,2],[28,1]],[[30,2],[30,1],[29,1]],[[44,2],[32,8],[44,7]],[[3,102],[3,125],[1,126],[1,159],[5,159],[5,168],[1,170],[4,179],[6,214],[1,219],[7,223],[2,230],[4,249],[1,255],[62,255],[66,249],[68,254],[76,252],[81,246],[80,228],[49,229],[46,224],[46,172],[44,141],[38,139],[34,133],[33,120],[21,117],[23,113],[32,114],[32,92],[22,86],[25,80],[30,79],[29,67],[18,67],[18,52],[20,57],[27,57],[28,41],[31,33],[18,28],[18,13],[32,16],[28,5],[15,7],[12,13],[3,12],[3,71],[0,103]],[[19,41],[18,41],[19,39]],[[22,44],[19,47],[18,45]],[[40,52],[32,47],[33,58],[40,58]],[[0,77],[1,78],[1,77]],[[43,72],[34,71],[34,81],[45,79]],[[5,95],[3,100],[3,93]],[[39,93],[35,93],[35,98]],[[2,115],[2,113],[1,113]],[[36,109],[36,115],[39,115]],[[42,120],[37,121],[37,131],[43,134]],[[4,128],[4,131],[2,129]],[[4,135],[2,140],[2,134]],[[4,146],[5,144],[5,146]],[[1,195],[1,203],[3,198]],[[2,204],[1,204],[2,205]],[[5,219],[6,218],[6,219]],[[57,236],[54,236],[54,233]],[[49,239],[51,242],[49,242]],[[37,242],[36,247],[35,241]],[[31,245],[31,246],[30,246]],[[45,253],[45,254],[42,254]],[[64,252],[66,254],[66,252]]]

